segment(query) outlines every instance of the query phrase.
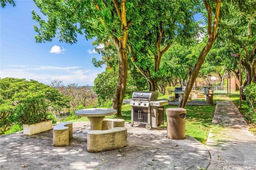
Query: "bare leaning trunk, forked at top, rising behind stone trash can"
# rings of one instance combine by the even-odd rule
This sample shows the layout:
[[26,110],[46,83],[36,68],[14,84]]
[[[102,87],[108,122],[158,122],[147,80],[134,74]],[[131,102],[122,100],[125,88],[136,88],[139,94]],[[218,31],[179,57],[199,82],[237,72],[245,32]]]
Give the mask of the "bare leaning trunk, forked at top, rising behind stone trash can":
[[216,35],[216,32],[218,29],[220,29],[220,19],[221,19],[221,12],[220,12],[220,5],[221,5],[221,0],[217,0],[216,1],[216,8],[215,8],[215,18],[214,18],[214,23],[212,24],[212,9],[210,8],[210,6],[207,4],[207,2],[204,0],[204,6],[207,10],[208,13],[208,41],[206,43],[206,46],[204,47],[204,49],[202,50],[202,52],[199,55],[198,61],[196,63],[196,65],[194,66],[194,69],[192,71],[192,74],[188,80],[188,84],[186,86],[186,90],[184,93],[184,96],[179,104],[179,107],[184,108],[186,105],[186,102],[188,100],[188,96],[193,88],[194,82],[196,80],[196,77],[198,75],[198,72],[202,66],[202,64],[204,63],[204,59],[206,57],[206,55],[208,54],[208,52],[210,51],[210,49],[212,48],[212,44],[214,43],[214,41],[216,40],[216,38],[218,37],[218,35]]

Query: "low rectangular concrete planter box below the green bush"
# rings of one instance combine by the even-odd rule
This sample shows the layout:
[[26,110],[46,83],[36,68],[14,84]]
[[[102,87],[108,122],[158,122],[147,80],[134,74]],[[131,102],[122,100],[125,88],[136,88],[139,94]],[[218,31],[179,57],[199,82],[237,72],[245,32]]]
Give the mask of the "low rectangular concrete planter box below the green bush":
[[51,129],[52,129],[52,120],[34,123],[31,125],[24,124],[23,125],[23,134],[24,135],[34,135],[34,134],[48,131]]

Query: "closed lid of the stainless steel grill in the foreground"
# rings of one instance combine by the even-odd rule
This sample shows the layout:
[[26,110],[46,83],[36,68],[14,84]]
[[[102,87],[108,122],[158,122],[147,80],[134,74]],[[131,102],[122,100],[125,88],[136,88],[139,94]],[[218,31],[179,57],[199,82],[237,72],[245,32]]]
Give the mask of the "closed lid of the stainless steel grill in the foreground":
[[136,91],[132,94],[132,100],[144,100],[144,101],[154,101],[158,98],[158,92],[140,92]]

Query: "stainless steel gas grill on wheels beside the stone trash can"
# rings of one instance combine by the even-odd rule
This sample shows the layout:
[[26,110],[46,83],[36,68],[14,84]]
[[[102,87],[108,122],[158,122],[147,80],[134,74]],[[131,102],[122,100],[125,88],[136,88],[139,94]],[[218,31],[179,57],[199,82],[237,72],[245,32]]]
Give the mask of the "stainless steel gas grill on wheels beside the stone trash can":
[[140,92],[132,94],[132,99],[124,100],[124,103],[132,106],[132,121],[134,123],[146,124],[146,129],[158,127],[164,124],[164,106],[168,105],[167,100],[157,100],[158,92]]

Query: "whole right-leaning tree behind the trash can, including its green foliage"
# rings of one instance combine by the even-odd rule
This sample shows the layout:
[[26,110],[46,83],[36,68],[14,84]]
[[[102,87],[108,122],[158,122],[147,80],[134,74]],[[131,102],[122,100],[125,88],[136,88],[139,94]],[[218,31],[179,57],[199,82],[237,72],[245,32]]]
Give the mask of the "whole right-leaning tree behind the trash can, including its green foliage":
[[[208,41],[198,57],[198,61],[194,67],[192,75],[190,76],[190,79],[186,86],[186,92],[182,98],[182,101],[179,104],[179,107],[182,107],[182,108],[186,104],[186,100],[188,99],[188,96],[189,96],[189,94],[192,90],[192,87],[194,85],[194,82],[196,80],[196,76],[198,75],[198,72],[199,72],[202,64],[204,63],[206,55],[208,54],[208,52],[212,48],[214,41],[217,39],[218,35],[220,34],[220,28],[225,29],[225,27],[222,27],[222,25],[221,25],[222,16],[224,16],[223,19],[228,19],[228,18],[230,18],[230,13],[232,13],[234,10],[237,10],[240,13],[242,13],[241,15],[244,15],[244,16],[249,15],[247,20],[251,20],[252,18],[254,18],[253,16],[255,16],[255,11],[256,11],[255,10],[255,6],[256,6],[255,0],[233,0],[232,2],[226,1],[226,0],[223,0],[223,2],[222,2],[222,0],[216,0],[216,1],[203,0],[203,2],[204,2],[204,6],[205,6],[205,9],[207,12],[206,19],[207,19]],[[230,21],[228,20],[228,22],[230,22]],[[252,22],[248,22],[248,23],[252,23]],[[250,32],[250,29],[248,29],[248,30]],[[249,33],[249,35],[252,35],[252,34]],[[250,44],[251,45],[254,44],[254,46],[255,46],[255,42],[250,43]],[[255,51],[255,49],[254,49],[254,51]],[[255,70],[255,67],[254,67],[254,70]]]

